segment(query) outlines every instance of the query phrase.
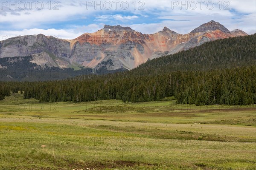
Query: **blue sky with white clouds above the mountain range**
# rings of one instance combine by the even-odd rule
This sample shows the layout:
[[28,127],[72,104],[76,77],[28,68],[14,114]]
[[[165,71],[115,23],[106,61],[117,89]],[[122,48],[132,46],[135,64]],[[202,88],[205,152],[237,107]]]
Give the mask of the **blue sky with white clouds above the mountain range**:
[[129,26],[144,34],[164,26],[186,34],[210,20],[230,31],[256,32],[255,0],[0,1],[0,38],[45,34],[74,39],[107,25]]

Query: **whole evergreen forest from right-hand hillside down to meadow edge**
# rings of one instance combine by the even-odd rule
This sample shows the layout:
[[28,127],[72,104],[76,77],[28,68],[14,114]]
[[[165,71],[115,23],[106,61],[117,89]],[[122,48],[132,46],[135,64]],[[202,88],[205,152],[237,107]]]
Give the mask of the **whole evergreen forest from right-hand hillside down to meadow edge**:
[[21,90],[25,99],[40,102],[145,102],[175,96],[183,104],[256,104],[255,54],[256,34],[216,40],[131,71],[58,81],[1,82],[0,99]]

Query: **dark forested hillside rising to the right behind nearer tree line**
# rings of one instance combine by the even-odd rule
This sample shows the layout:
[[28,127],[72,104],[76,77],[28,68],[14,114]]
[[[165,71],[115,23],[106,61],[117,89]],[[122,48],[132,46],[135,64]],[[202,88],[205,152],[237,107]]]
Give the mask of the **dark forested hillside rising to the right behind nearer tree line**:
[[148,61],[135,75],[166,74],[256,65],[256,34],[206,42],[195,48]]

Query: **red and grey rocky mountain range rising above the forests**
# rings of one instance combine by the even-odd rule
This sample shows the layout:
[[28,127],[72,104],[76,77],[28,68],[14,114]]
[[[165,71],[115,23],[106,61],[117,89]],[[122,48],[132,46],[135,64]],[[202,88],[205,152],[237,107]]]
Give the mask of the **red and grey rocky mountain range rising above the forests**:
[[[129,27],[105,25],[95,33],[85,33],[74,40],[59,40],[42,34],[21,37],[16,43],[4,40],[0,42],[0,57],[33,55],[32,62],[61,68],[83,65],[108,70],[132,69],[148,59],[174,54],[207,41],[244,35],[247,35],[244,31],[229,31],[215,21],[188,34],[178,34],[166,27],[154,34],[142,34]],[[38,57],[39,54],[44,58]],[[54,63],[47,62],[47,58],[52,58]]]

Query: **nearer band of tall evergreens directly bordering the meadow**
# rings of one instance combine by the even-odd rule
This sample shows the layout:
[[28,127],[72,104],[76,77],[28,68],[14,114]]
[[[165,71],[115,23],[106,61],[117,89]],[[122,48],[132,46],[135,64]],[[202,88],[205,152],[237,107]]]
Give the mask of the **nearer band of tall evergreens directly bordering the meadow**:
[[1,85],[1,94],[8,96],[8,91],[21,90],[24,91],[24,99],[35,98],[40,102],[104,99],[148,102],[175,96],[177,104],[256,104],[256,65],[209,71],[175,71],[157,77],[131,76],[128,79],[119,75],[84,80],[5,82]]

